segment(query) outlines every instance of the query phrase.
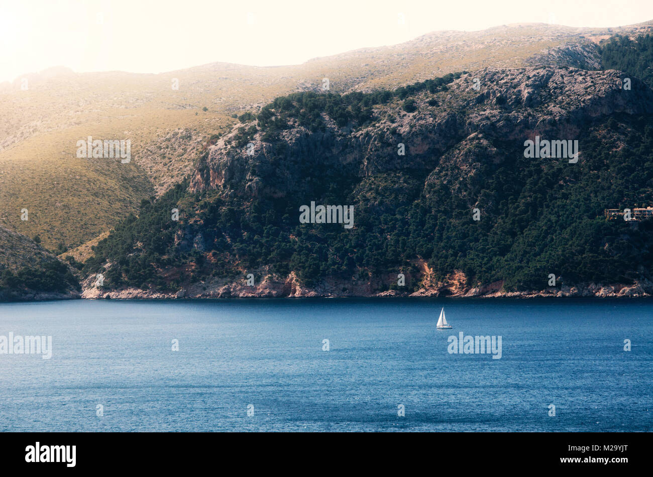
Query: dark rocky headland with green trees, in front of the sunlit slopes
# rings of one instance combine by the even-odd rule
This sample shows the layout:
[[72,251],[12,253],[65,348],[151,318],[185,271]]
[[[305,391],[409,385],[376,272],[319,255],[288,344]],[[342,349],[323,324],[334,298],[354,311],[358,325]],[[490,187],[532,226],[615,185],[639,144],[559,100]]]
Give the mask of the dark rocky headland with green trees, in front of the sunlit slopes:
[[653,222],[603,211],[650,205],[652,112],[635,77],[556,66],[279,97],[98,243],[84,296],[650,294]]

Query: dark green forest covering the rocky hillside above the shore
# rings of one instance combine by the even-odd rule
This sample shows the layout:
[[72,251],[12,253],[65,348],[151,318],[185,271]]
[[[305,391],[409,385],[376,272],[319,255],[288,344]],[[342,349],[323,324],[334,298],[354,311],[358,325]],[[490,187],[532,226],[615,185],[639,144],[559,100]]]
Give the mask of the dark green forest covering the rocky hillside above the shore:
[[[405,102],[416,91],[424,88],[374,98]],[[283,147],[279,131],[294,121],[319,128],[322,118],[314,113],[325,108],[340,112],[343,125],[356,126],[373,119],[363,113],[366,98],[332,93],[278,98],[259,114],[257,131]],[[352,113],[358,104],[363,104],[360,115]],[[614,116],[579,136],[582,168],[571,169],[555,161],[530,161],[520,147],[495,139],[492,146],[505,161],[482,164],[464,181],[464,196],[426,181],[428,170],[361,180],[354,164],[333,170],[304,157],[305,167],[297,169],[296,162],[276,158],[274,172],[259,174],[265,184],[279,187],[282,177],[298,174],[301,189],[287,191],[290,196],[356,204],[355,228],[343,233],[299,224],[295,201],[287,197],[225,200],[219,191],[191,193],[184,184],[155,203],[145,201],[138,218],[129,217],[99,243],[84,271],[97,273],[111,262],[116,266],[106,273],[109,288],[174,291],[183,283],[235,279],[243,269],[271,266],[281,276],[295,271],[302,283],[315,286],[326,277],[347,281],[416,271],[419,257],[438,279],[460,269],[470,285],[503,280],[506,290],[541,290],[550,273],[567,285],[632,283],[652,269],[653,224],[608,223],[603,209],[652,200],[653,123],[650,117]],[[615,150],[617,142],[625,147]],[[470,197],[483,204],[481,221],[473,221]],[[170,221],[172,208],[185,211],[185,218]],[[200,246],[179,236],[199,236]],[[183,269],[172,281],[161,273],[170,267]],[[407,289],[417,286],[409,283]]]

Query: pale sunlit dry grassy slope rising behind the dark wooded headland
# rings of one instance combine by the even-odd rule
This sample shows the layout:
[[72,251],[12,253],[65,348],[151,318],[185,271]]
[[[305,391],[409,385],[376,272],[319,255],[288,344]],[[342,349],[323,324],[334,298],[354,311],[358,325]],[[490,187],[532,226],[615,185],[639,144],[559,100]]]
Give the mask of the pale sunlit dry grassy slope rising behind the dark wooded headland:
[[[0,225],[53,248],[95,238],[187,174],[205,138],[229,129],[232,114],[292,91],[367,91],[458,70],[518,67],[567,42],[647,29],[509,25],[479,32],[436,32],[404,44],[367,48],[289,67],[212,63],[163,74],[28,75],[29,89],[0,85]],[[584,37],[584,38],[581,38]],[[178,78],[179,89],[172,89]],[[202,108],[206,106],[207,112]],[[129,138],[132,161],[77,159],[76,142]],[[20,209],[29,221],[20,221]]]

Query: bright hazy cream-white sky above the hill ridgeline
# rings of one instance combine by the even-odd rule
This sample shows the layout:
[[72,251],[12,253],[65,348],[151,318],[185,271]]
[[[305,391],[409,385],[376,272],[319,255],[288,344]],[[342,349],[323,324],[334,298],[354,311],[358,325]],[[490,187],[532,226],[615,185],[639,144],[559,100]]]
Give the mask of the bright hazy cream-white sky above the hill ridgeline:
[[652,0],[0,0],[0,81],[55,65],[78,72],[289,65],[436,30],[648,20]]

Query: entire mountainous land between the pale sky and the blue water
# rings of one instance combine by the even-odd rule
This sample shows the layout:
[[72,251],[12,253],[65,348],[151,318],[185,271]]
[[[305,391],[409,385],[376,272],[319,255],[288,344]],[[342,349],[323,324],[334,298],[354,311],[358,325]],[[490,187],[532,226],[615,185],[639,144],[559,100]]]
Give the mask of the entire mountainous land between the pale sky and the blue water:
[[[0,85],[0,226],[15,234],[0,288],[51,288],[27,280],[44,271],[24,246],[38,235],[62,294],[78,260],[85,296],[528,294],[549,268],[546,293],[649,293],[648,223],[616,234],[599,218],[650,204],[652,26],[436,32],[291,67],[24,75]],[[583,174],[517,162],[538,135],[577,138]],[[88,136],[130,140],[131,161],[76,157]],[[355,225],[298,224],[295,200],[353,206]]]

